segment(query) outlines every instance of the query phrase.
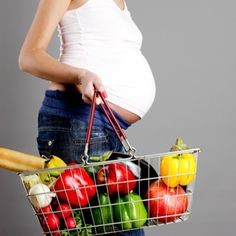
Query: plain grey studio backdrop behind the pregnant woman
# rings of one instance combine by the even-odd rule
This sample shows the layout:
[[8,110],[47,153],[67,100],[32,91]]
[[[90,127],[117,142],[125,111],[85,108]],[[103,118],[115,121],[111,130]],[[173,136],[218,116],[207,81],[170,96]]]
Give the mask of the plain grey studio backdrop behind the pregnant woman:
[[[38,1],[0,3],[0,145],[37,154],[36,120],[47,82],[18,69],[18,53]],[[147,235],[235,235],[236,1],[127,0],[144,35],[157,83],[146,117],[127,132],[139,154],[167,151],[181,135],[201,147],[193,214]],[[58,56],[55,35],[49,52]],[[0,170],[0,235],[37,236],[15,173]],[[155,231],[156,230],[156,231]]]

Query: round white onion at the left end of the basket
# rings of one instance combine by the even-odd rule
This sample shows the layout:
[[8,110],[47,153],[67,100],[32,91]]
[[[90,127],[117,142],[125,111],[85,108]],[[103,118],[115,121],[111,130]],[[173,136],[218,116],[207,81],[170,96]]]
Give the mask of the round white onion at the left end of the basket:
[[45,184],[36,184],[29,191],[30,201],[37,208],[48,206],[52,201],[52,197],[55,196],[56,194],[50,192]]

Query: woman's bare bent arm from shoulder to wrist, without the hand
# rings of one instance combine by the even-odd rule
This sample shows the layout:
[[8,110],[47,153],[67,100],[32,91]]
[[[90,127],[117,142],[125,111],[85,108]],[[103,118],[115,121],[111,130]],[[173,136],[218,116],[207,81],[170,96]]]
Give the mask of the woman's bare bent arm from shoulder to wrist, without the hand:
[[42,79],[59,83],[78,83],[83,70],[63,64],[47,53],[58,22],[71,0],[41,0],[22,45],[19,67]]

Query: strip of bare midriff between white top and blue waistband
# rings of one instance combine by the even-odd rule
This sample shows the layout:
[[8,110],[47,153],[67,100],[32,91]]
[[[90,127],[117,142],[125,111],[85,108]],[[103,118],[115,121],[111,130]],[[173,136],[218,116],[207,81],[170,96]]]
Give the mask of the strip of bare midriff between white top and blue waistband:
[[[71,86],[70,86],[71,87]],[[67,86],[60,83],[50,83],[49,90],[61,90],[61,91],[67,91]],[[71,89],[70,89],[71,90]],[[75,89],[77,90],[77,89]],[[78,91],[78,90],[77,90]],[[130,112],[120,106],[117,106],[114,103],[108,102],[111,109],[116,111],[123,119],[125,119],[128,123],[133,124],[136,121],[140,120],[140,117],[136,115],[133,112]]]

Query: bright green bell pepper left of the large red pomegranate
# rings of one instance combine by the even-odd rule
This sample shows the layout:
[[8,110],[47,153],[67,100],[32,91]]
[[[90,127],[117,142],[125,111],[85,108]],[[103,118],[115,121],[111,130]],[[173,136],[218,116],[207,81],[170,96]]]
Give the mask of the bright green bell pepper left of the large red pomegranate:
[[121,229],[140,228],[147,221],[147,210],[138,194],[130,192],[123,198],[118,198],[115,203],[113,214],[115,221],[121,222]]

